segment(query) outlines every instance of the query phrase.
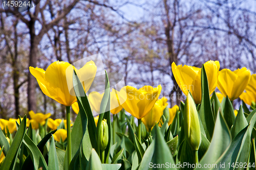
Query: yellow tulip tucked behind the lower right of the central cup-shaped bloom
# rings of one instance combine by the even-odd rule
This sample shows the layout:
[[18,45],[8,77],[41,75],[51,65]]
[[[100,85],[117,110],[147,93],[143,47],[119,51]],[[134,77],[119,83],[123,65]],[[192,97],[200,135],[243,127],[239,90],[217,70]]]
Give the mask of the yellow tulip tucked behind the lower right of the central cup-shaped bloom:
[[[144,117],[141,118],[141,121],[146,127],[146,130],[150,132],[153,127],[156,125],[156,123],[159,122],[161,116],[163,115],[164,108],[168,105],[165,102],[166,98],[159,99],[154,107],[151,109],[151,111]],[[165,102],[165,103],[164,103]]]

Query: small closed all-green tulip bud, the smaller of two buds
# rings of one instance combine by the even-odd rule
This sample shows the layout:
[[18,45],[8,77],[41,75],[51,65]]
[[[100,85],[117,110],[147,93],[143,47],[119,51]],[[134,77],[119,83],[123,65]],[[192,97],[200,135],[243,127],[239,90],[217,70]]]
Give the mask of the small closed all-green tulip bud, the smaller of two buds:
[[106,119],[103,119],[100,126],[99,132],[99,148],[104,151],[109,143],[109,127],[106,123]]

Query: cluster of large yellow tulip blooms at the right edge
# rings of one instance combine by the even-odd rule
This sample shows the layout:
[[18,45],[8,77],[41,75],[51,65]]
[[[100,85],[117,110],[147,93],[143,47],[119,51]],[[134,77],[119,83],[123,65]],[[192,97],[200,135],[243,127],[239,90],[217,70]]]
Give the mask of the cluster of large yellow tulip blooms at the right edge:
[[[216,87],[221,93],[217,93],[217,96],[222,101],[223,97],[233,101],[240,97],[245,103],[251,105],[251,102],[255,102],[256,88],[254,86],[256,82],[256,75],[251,75],[250,70],[246,67],[238,68],[231,71],[224,68],[219,71],[219,61],[207,61],[204,63],[208,86],[210,94],[214,92]],[[172,70],[176,82],[185,95],[188,91],[191,92],[195,103],[201,103],[201,68],[172,64]],[[246,90],[246,92],[244,92]]]

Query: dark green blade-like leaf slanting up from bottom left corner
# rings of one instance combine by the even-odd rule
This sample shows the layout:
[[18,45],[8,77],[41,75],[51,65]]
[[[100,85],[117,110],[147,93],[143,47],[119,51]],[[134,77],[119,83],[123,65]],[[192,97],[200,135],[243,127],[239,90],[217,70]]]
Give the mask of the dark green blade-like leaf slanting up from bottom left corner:
[[11,147],[9,148],[6,154],[5,160],[0,167],[0,170],[13,169],[13,167],[15,166],[18,150],[24,138],[26,127],[27,127],[27,116],[25,115],[22,120],[22,123],[20,124],[14,136]]

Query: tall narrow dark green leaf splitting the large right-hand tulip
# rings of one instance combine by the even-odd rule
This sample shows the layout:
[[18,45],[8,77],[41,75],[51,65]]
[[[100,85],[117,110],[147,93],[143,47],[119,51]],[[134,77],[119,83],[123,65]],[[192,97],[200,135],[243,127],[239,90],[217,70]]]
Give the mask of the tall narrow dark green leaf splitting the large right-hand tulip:
[[208,80],[204,65],[202,66],[201,70],[201,87],[202,103],[199,111],[199,116],[202,121],[206,137],[208,140],[210,140],[214,132],[215,120],[211,110]]

